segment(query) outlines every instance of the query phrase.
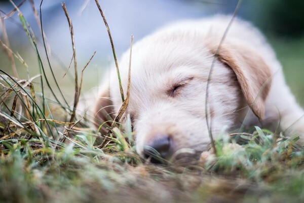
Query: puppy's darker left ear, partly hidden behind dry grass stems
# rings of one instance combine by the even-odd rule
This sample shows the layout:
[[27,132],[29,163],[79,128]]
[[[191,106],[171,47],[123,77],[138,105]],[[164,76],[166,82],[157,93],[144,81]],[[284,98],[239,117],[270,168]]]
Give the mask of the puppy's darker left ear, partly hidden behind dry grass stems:
[[[94,109],[94,125],[99,127],[106,121],[113,120],[113,106],[110,98],[109,85],[103,85],[102,91],[99,93]],[[111,122],[103,124],[101,131],[106,131],[106,127],[109,127]]]

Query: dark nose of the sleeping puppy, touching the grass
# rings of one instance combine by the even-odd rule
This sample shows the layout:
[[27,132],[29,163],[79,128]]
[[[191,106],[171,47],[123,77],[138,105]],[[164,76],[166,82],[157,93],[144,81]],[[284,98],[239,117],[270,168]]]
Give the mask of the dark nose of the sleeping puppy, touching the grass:
[[168,156],[171,145],[169,136],[159,136],[149,145],[145,146],[143,153],[145,158],[151,158],[152,163],[162,163]]

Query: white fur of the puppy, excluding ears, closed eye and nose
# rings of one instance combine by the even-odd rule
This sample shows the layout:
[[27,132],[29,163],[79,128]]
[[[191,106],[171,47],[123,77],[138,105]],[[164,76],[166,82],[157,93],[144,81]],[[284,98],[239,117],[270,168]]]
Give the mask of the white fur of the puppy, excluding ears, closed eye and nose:
[[[128,113],[133,117],[136,147],[140,154],[145,144],[162,134],[171,136],[171,154],[182,148],[206,150],[210,140],[205,118],[205,96],[214,55],[204,42],[210,39],[219,41],[230,20],[230,16],[214,16],[180,22],[134,44]],[[304,112],[290,93],[281,65],[261,33],[249,23],[235,19],[224,42],[249,47],[271,67],[272,86],[264,103],[262,123],[280,121],[282,130],[304,134],[304,119],[301,118]],[[126,92],[129,50],[119,64]],[[185,78],[193,79],[186,81],[187,84],[178,90],[178,95],[170,96],[168,92],[172,85]],[[243,104],[243,95],[234,80],[234,72],[215,60],[208,100],[214,136],[224,126],[227,129],[240,126],[245,116],[245,124],[260,124],[248,104]],[[110,97],[115,112],[118,112],[122,100],[115,69],[110,77]]]

